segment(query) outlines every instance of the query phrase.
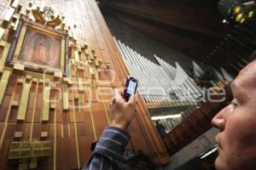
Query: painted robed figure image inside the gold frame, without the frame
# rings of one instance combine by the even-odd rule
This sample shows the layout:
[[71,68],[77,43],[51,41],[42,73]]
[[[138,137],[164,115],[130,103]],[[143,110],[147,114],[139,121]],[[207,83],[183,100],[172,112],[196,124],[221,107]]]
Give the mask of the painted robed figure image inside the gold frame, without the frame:
[[61,38],[28,29],[20,59],[39,65],[59,68]]

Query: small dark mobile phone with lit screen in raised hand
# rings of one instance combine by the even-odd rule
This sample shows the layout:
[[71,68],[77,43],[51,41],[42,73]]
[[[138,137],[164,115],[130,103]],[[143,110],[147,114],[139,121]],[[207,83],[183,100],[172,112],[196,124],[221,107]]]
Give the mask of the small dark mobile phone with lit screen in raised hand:
[[132,94],[135,94],[137,90],[137,79],[128,76],[125,83],[125,91],[123,98],[127,102]]

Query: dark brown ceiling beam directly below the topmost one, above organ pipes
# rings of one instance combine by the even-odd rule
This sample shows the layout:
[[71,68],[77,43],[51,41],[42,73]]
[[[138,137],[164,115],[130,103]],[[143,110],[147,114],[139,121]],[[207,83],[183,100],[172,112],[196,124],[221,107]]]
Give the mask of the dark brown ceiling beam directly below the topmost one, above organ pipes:
[[219,42],[219,38],[216,37],[206,37],[200,33],[184,31],[172,26],[160,26],[153,24],[151,20],[143,20],[130,14],[117,13],[111,8],[108,8],[108,14],[113,14],[118,20],[143,32],[148,37],[153,37],[157,41],[164,42],[171,48],[197,59],[209,54]]

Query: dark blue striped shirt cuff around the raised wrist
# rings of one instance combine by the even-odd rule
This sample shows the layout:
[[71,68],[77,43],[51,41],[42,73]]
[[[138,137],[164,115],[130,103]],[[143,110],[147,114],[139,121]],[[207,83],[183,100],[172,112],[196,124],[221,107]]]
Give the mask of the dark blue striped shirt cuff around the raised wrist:
[[107,156],[110,160],[120,160],[129,140],[129,133],[118,127],[108,126],[103,131],[94,152]]

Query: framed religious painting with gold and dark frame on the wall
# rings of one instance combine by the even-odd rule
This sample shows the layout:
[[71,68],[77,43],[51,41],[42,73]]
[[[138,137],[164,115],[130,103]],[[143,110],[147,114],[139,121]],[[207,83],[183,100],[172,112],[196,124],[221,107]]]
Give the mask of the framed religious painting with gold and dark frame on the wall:
[[68,75],[68,35],[51,27],[21,19],[11,44],[7,65],[19,63],[25,69]]

